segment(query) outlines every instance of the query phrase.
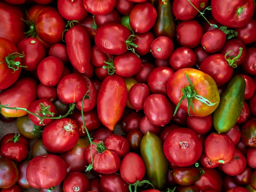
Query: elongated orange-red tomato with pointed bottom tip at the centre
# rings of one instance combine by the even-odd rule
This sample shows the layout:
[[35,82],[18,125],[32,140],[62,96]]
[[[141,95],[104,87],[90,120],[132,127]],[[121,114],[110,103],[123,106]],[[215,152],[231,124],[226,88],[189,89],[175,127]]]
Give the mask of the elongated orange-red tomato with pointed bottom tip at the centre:
[[102,81],[97,96],[99,119],[108,129],[113,130],[120,120],[127,100],[126,83],[116,74]]

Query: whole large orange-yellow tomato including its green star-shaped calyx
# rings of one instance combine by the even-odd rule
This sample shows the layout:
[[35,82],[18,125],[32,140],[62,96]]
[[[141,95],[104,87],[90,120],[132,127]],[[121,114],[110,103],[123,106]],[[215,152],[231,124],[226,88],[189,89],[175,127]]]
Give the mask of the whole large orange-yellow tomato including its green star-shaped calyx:
[[177,105],[174,114],[180,107],[191,115],[207,116],[220,102],[218,87],[213,78],[192,68],[175,71],[168,80],[167,94]]

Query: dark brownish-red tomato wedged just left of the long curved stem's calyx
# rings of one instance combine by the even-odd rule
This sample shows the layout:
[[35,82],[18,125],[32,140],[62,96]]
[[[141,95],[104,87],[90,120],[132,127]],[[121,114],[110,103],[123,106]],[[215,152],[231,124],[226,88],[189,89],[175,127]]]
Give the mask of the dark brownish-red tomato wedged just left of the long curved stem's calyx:
[[85,166],[88,166],[88,162],[85,159],[85,148],[88,145],[88,141],[79,138],[78,143],[72,149],[59,154],[67,165],[67,173],[85,171]]

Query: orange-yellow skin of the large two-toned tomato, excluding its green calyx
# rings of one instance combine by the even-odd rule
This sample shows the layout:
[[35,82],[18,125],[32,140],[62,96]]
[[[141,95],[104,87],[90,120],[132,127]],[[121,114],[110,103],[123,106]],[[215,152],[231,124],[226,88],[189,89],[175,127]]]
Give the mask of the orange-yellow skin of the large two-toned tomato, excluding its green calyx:
[[[182,98],[182,88],[189,86],[189,81],[186,79],[185,73],[191,80],[196,94],[201,97],[207,98],[211,103],[215,103],[212,106],[200,102],[197,99],[193,99],[193,110],[189,109],[189,114],[195,116],[207,116],[211,114],[219,105],[220,95],[218,88],[211,76],[205,74],[202,71],[192,68],[183,68],[175,71],[175,73],[169,78],[167,83],[167,94],[171,101],[177,105]],[[187,100],[183,100],[180,104],[180,108],[184,111],[188,111]]]

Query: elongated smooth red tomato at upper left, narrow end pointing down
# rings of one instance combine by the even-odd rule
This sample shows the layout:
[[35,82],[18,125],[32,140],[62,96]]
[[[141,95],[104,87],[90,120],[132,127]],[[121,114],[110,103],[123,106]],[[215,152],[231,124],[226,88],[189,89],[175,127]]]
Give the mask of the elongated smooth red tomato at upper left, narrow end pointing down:
[[80,73],[88,70],[91,58],[91,42],[88,31],[82,25],[76,25],[65,34],[67,55],[72,66]]

